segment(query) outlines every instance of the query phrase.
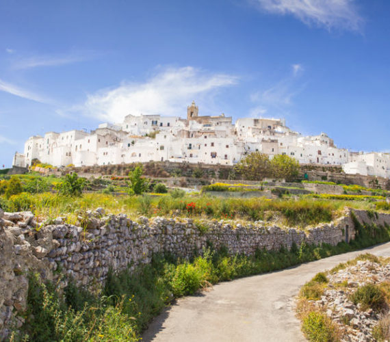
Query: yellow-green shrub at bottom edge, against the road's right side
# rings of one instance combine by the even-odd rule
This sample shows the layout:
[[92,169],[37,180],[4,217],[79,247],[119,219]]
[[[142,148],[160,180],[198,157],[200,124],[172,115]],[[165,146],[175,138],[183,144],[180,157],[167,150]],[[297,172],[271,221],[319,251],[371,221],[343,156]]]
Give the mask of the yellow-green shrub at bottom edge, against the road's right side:
[[311,311],[302,322],[302,331],[309,341],[339,341],[337,330],[331,319],[324,313]]

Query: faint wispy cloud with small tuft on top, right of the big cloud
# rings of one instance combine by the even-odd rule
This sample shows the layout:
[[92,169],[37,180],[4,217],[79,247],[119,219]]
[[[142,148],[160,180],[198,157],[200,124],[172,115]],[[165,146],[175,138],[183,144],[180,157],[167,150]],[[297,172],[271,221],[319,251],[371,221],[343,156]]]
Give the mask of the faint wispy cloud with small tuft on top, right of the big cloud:
[[250,95],[250,100],[255,107],[250,109],[250,116],[261,116],[265,113],[271,115],[286,114],[288,108],[293,105],[293,99],[300,94],[305,85],[299,79],[303,73],[302,64],[293,64],[290,74],[278,81],[274,86],[265,90],[259,90]]

